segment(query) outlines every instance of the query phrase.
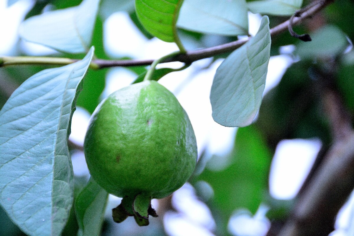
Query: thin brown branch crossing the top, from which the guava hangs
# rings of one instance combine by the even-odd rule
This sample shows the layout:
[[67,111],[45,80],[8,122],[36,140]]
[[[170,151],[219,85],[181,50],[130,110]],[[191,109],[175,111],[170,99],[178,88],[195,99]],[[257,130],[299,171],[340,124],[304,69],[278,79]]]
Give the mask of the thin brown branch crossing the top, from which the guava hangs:
[[[332,3],[333,0],[319,0],[316,4],[312,4],[312,6],[306,6],[306,11],[301,12],[300,16],[296,16],[292,18],[292,25],[296,25],[301,23],[304,19],[309,18],[324,7]],[[270,29],[270,35],[274,36],[281,32],[284,32],[288,29],[290,24],[290,20],[285,21],[276,27]],[[184,62],[184,63],[192,63],[198,61],[200,59],[213,57],[218,54],[232,52],[235,49],[244,45],[249,38],[240,39],[233,42],[229,42],[227,44],[222,44],[214,47],[203,48],[198,50],[187,51],[186,53],[178,54],[174,57],[167,58],[162,62]],[[66,65],[73,62],[76,62],[76,59],[69,58],[56,58],[56,57],[0,57],[0,67],[4,67],[7,65],[23,65],[23,64],[41,64],[41,65]],[[128,66],[139,66],[139,65],[150,65],[153,63],[153,59],[151,60],[104,60],[104,59],[94,59],[91,62],[90,67],[92,69],[102,69],[107,67],[128,67]]]

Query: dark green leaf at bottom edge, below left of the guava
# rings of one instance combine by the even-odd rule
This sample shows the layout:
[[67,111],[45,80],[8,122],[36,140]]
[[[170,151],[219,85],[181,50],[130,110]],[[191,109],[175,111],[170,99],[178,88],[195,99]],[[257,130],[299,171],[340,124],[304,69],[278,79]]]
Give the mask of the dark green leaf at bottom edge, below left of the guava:
[[90,178],[89,183],[75,198],[78,236],[99,236],[104,219],[108,193]]

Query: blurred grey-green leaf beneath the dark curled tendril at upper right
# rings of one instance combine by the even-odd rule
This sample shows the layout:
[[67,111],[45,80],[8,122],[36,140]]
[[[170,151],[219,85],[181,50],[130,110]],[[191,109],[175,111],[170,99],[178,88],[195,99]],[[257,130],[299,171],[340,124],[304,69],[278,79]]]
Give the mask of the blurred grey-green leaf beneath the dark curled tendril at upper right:
[[299,40],[294,53],[304,59],[333,57],[348,46],[346,35],[335,25],[325,25],[313,32],[311,38],[310,42]]

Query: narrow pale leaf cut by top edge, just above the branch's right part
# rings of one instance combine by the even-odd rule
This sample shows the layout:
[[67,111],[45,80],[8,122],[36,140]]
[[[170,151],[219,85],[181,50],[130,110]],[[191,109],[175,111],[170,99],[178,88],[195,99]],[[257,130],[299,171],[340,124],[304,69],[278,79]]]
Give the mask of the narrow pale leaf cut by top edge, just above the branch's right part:
[[291,16],[299,10],[302,0],[260,0],[247,2],[252,13],[269,14],[276,16]]

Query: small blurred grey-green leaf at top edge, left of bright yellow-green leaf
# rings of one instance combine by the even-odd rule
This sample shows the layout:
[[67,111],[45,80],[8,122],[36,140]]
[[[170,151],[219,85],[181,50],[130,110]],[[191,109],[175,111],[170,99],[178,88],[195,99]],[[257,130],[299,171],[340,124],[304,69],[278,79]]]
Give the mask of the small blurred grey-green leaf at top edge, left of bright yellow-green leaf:
[[110,15],[118,11],[133,12],[135,9],[134,0],[101,0],[99,15],[107,19]]

